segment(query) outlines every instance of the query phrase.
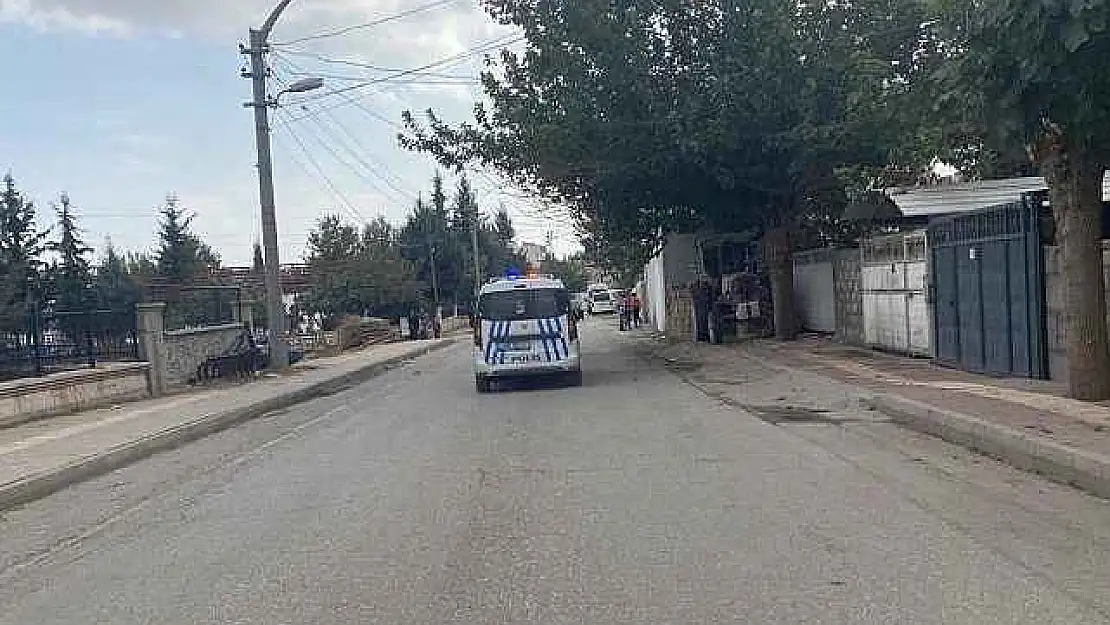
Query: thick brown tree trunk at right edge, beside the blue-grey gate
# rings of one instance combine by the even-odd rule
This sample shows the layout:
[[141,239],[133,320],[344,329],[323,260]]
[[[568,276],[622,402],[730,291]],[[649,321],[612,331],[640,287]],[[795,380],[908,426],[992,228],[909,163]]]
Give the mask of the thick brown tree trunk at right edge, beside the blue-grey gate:
[[1077,400],[1110,399],[1102,282],[1102,174],[1081,149],[1056,145],[1042,159],[1063,256],[1068,389]]

